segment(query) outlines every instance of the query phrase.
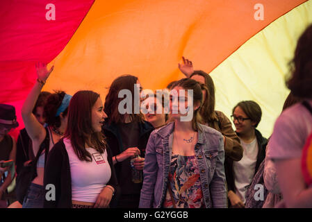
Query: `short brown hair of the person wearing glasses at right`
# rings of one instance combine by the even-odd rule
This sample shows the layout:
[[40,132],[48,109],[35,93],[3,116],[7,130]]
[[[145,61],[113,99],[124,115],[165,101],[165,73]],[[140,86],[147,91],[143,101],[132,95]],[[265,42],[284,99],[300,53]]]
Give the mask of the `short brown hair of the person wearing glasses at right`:
[[234,106],[232,114],[238,106],[245,112],[245,114],[248,118],[251,119],[251,121],[256,122],[256,125],[254,125],[254,128],[256,128],[258,126],[258,123],[260,123],[262,116],[262,111],[258,103],[256,103],[255,101],[241,101],[236,106]]

